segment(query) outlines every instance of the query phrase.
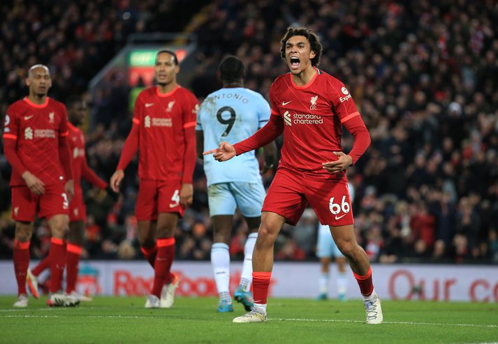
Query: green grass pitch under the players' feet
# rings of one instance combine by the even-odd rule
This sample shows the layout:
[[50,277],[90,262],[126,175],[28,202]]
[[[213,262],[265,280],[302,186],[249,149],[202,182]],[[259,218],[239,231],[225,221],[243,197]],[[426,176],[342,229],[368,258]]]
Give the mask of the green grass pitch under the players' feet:
[[233,324],[217,299],[177,298],[146,310],[144,297],[96,297],[48,308],[0,297],[0,343],[483,343],[498,342],[498,304],[383,301],[384,323],[367,325],[362,302],[270,299],[266,324]]

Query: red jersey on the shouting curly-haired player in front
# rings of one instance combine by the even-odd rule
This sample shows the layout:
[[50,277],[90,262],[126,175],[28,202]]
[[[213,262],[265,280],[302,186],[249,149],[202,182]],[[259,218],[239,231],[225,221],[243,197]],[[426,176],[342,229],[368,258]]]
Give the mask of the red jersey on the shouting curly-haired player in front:
[[342,151],[342,123],[360,113],[344,84],[316,68],[303,87],[291,73],[270,87],[272,114],[284,119],[284,146],[279,165],[300,172],[328,173],[322,163],[337,160]]

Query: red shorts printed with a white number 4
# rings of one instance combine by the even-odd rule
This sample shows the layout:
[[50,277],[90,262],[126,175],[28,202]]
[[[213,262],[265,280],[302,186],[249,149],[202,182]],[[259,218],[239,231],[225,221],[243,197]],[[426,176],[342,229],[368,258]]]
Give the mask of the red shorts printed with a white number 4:
[[168,181],[140,179],[135,216],[137,220],[157,220],[159,213],[184,214],[180,205],[181,179]]

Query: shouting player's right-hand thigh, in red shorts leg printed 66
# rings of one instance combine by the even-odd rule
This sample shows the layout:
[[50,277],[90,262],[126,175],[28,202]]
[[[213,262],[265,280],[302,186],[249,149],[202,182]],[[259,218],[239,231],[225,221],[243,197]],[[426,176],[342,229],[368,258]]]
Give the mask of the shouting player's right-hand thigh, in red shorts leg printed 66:
[[353,224],[353,211],[347,181],[307,180],[306,198],[320,220],[332,226]]

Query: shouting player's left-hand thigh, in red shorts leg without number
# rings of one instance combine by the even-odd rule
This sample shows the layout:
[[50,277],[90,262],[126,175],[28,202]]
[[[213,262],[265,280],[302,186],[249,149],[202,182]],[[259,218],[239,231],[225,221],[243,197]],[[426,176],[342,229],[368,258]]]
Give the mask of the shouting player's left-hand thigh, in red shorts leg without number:
[[288,224],[296,225],[307,204],[302,181],[288,170],[279,169],[263,202],[261,220],[263,211],[268,211],[283,216]]

